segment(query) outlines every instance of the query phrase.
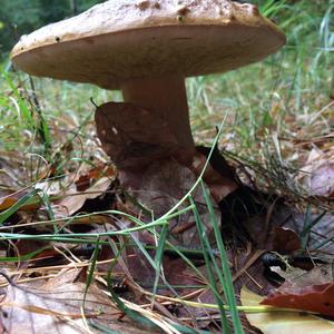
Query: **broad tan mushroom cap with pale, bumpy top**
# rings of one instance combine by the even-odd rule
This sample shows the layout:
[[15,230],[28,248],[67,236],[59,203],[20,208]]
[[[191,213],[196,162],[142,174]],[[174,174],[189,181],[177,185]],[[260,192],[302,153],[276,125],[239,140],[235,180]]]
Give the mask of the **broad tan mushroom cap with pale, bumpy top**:
[[225,72],[284,43],[284,33],[253,4],[109,0],[22,36],[11,58],[33,76],[117,89],[132,78]]

